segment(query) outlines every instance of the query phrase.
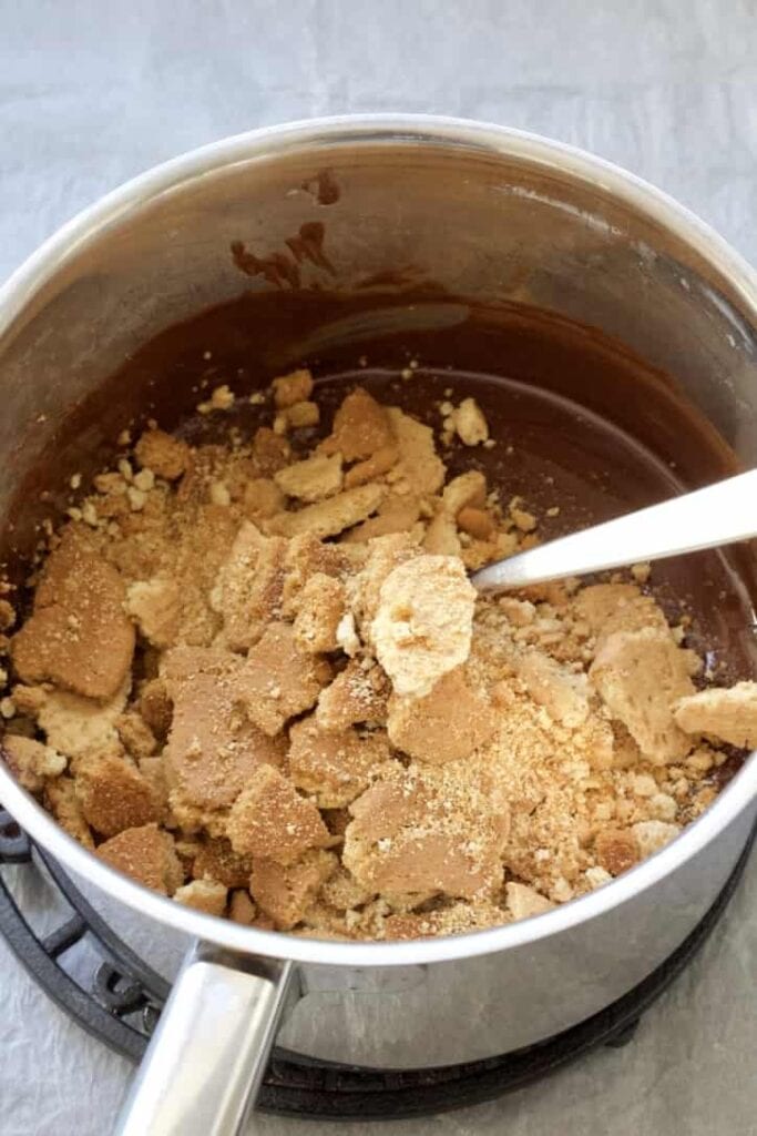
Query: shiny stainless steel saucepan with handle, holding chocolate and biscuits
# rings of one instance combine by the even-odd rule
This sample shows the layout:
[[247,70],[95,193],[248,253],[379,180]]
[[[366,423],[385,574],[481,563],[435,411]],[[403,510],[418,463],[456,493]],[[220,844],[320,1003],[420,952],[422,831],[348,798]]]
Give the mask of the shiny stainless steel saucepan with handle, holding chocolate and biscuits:
[[[291,286],[275,253],[323,232],[326,265],[300,257],[301,287],[323,272],[340,287],[414,272],[455,295],[525,299],[674,375],[738,459],[757,463],[757,279],[690,212],[535,135],[422,116],[312,120],[149,170],[64,226],[2,289],[3,559],[31,548],[40,469],[51,478],[57,438],[70,440],[66,424],[103,379],[204,307],[244,287]],[[252,277],[229,251],[239,241],[262,266]],[[82,425],[78,444],[83,456],[102,444],[96,423]],[[723,887],[754,825],[757,762],[672,844],[590,895],[491,930],[396,943],[301,938],[199,913],[95,859],[1,763],[0,797],[77,877],[154,920],[155,935],[171,927],[195,941],[118,1130],[228,1136],[277,1036],[312,1056],[439,1066],[536,1043],[619,999]]]

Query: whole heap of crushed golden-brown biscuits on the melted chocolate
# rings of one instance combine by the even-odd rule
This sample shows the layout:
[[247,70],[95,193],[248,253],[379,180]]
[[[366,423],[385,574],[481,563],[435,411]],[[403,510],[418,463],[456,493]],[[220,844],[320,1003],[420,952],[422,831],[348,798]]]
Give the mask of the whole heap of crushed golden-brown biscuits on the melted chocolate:
[[530,918],[665,846],[757,745],[757,684],[712,685],[648,565],[473,592],[541,538],[461,468],[496,441],[474,400],[445,391],[435,436],[362,387],[319,432],[314,398],[305,369],[221,384],[200,409],[222,438],[150,420],[133,460],[64,486],[12,640],[0,584],[19,782],[146,886],[321,938]]

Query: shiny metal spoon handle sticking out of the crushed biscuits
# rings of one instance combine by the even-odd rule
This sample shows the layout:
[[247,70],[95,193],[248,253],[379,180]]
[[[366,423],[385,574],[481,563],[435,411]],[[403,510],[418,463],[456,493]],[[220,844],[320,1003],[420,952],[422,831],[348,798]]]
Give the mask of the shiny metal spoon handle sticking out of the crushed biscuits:
[[479,592],[712,549],[757,536],[757,469],[498,560],[473,573]]

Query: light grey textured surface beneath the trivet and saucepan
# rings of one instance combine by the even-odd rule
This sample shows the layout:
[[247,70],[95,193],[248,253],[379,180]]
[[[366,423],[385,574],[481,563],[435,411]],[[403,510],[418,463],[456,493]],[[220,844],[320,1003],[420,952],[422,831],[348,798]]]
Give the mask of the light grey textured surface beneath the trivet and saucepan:
[[[756,18],[752,0],[0,0],[0,276],[79,207],[184,149],[388,109],[584,145],[674,193],[754,262]],[[757,1133],[756,909],[752,863],[705,955],[628,1049],[506,1101],[342,1131]],[[0,976],[2,1136],[109,1131],[127,1063],[51,1006],[2,944]],[[330,1127],[259,1122],[266,1136]]]

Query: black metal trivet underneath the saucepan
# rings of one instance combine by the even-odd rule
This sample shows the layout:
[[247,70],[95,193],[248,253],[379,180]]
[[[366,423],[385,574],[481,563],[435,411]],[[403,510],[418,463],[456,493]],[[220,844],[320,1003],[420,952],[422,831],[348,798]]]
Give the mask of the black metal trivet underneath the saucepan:
[[[599,1045],[625,1045],[640,1016],[681,974],[723,914],[747,864],[755,833],[701,922],[648,978],[605,1010],[525,1049],[438,1069],[367,1069],[317,1061],[275,1049],[258,1108],[279,1116],[331,1120],[395,1120],[432,1116],[493,1100],[555,1072]],[[25,864],[47,871],[69,908],[50,935],[39,937],[14,900],[3,868]],[[24,869],[26,870],[26,869]],[[84,1029],[133,1061],[140,1061],[169,984],[113,934],[60,866],[33,846],[0,809],[0,933],[44,992]],[[86,984],[62,968],[66,952],[86,937],[96,961]]]

